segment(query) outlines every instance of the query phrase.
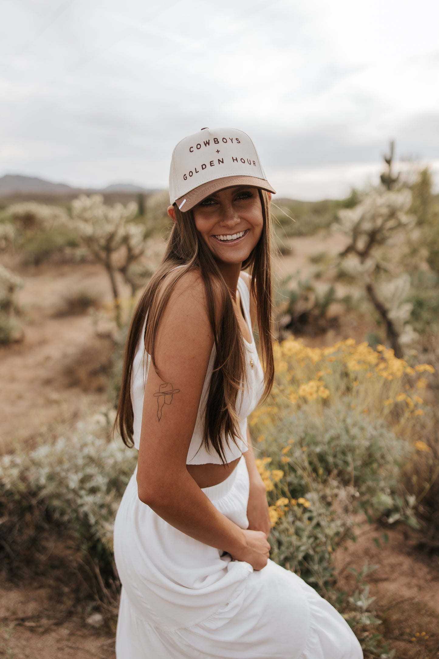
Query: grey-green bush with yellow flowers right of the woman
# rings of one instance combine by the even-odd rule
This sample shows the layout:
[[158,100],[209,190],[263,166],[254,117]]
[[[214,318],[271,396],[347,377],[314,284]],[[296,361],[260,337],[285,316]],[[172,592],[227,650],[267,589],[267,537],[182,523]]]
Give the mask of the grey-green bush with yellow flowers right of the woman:
[[263,455],[272,554],[322,589],[355,512],[417,525],[401,471],[422,449],[409,438],[425,413],[423,374],[434,369],[353,339],[309,348],[289,338],[274,355],[271,399],[249,419]]

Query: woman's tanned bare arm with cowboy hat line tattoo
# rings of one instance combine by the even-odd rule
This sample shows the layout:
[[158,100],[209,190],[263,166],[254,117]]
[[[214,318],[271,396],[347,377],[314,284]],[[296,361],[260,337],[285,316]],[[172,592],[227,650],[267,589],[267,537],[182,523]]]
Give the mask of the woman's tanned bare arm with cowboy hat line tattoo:
[[[269,544],[222,515],[186,469],[201,391],[214,343],[199,275],[178,281],[167,304],[145,387],[138,459],[138,495],[187,535],[261,569]],[[172,393],[170,393],[172,392]]]

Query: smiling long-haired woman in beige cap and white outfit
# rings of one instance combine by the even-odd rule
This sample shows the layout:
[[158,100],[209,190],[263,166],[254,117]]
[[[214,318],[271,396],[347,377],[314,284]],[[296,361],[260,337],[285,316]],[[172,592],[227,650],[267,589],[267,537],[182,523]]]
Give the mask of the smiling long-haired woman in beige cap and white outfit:
[[179,142],[169,189],[174,226],[132,319],[116,418],[139,451],[115,521],[116,655],[360,659],[342,616],[269,560],[247,415],[274,377],[274,190],[235,129]]

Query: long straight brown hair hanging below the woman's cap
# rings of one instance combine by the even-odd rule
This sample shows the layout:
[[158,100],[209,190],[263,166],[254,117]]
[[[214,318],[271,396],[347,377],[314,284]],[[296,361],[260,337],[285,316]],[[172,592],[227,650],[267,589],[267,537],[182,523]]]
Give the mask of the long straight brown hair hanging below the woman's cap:
[[[251,294],[255,295],[257,299],[259,346],[265,372],[265,387],[261,397],[261,403],[263,403],[269,397],[274,380],[271,281],[272,220],[268,194],[265,190],[259,188],[258,192],[263,214],[262,235],[249,257],[243,262],[242,270],[249,269]],[[224,463],[224,444],[229,445],[230,439],[236,442],[236,437],[239,436],[236,400],[238,393],[243,389],[243,382],[247,381],[244,340],[234,312],[230,291],[217,262],[195,227],[192,210],[182,213],[176,206],[174,208],[176,221],[168,238],[165,256],[163,256],[161,264],[151,277],[131,319],[124,354],[122,387],[113,431],[116,428],[118,429],[124,444],[127,446],[131,447],[134,444],[134,414],[130,391],[132,363],[146,314],[147,323],[143,342],[145,346],[149,347],[151,362],[157,372],[155,340],[162,313],[178,279],[190,270],[197,270],[205,286],[207,312],[217,351],[205,409],[203,442],[206,447],[213,447]],[[174,270],[172,275],[168,277],[163,295],[157,295],[163,279],[176,266],[185,267]],[[213,281],[218,282],[220,297],[222,297],[222,314],[220,314],[218,332],[215,320],[218,300],[215,299]]]

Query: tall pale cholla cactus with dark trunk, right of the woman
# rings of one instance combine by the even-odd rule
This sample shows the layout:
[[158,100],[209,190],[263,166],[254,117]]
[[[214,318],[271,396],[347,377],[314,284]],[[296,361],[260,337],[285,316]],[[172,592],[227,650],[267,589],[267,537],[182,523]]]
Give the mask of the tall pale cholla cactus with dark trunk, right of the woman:
[[376,285],[374,279],[378,266],[382,270],[388,268],[378,262],[374,252],[380,245],[390,245],[401,230],[413,226],[415,217],[408,214],[410,206],[410,190],[403,188],[392,191],[378,186],[366,194],[354,208],[340,210],[339,223],[334,225],[335,229],[351,239],[340,255],[344,258],[342,268],[363,281],[369,299],[384,320],[387,337],[396,357],[402,357],[401,345],[408,345],[417,339],[417,333],[406,324],[412,307],[403,303],[403,298],[409,290],[410,278],[404,274],[387,283]]

